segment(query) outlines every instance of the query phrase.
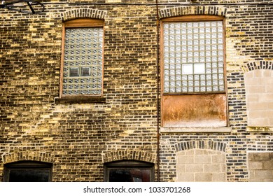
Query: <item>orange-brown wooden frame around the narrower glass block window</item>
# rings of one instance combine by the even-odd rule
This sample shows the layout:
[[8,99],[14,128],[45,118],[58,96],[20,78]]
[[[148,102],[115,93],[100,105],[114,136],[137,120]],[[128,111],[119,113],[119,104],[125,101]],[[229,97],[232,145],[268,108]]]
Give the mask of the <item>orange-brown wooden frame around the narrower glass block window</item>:
[[[64,48],[65,48],[65,33],[68,28],[86,28],[86,27],[102,27],[103,38],[102,38],[102,90],[100,94],[63,94],[63,79],[64,79]],[[79,99],[79,102],[88,102],[88,97],[92,98],[91,102],[95,102],[94,98],[102,98],[104,91],[104,20],[92,19],[92,18],[79,18],[63,22],[62,25],[62,56],[60,66],[60,77],[59,77],[59,99],[58,102],[77,102],[73,98]]]

